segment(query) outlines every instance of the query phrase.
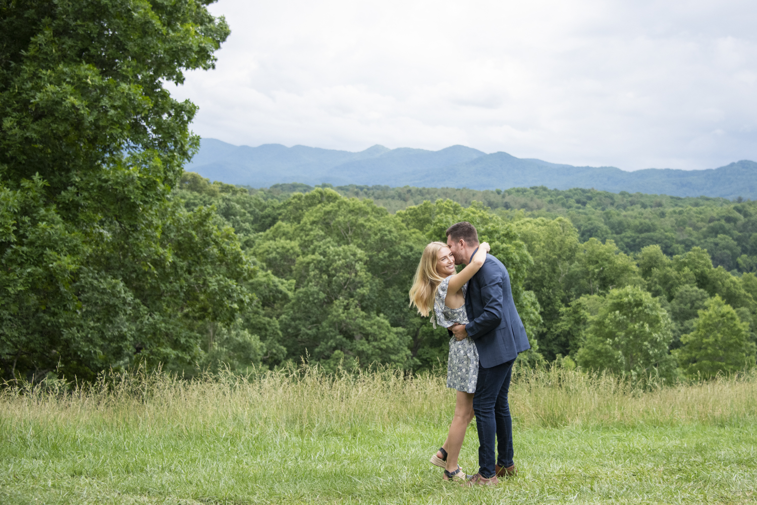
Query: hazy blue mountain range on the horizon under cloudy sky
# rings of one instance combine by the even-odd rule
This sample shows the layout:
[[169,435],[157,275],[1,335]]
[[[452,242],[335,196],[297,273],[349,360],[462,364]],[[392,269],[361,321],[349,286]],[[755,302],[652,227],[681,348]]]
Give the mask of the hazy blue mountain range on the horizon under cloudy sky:
[[509,189],[546,185],[551,189],[594,188],[673,196],[706,195],[757,199],[757,163],[738,161],[709,170],[655,169],[626,172],[615,167],[574,167],[505,152],[486,154],[463,145],[441,151],[388,149],[374,145],[349,152],[279,144],[226,144],[202,139],[185,170],[211,180],[268,187],[281,182],[316,185],[390,185]]

